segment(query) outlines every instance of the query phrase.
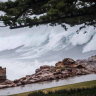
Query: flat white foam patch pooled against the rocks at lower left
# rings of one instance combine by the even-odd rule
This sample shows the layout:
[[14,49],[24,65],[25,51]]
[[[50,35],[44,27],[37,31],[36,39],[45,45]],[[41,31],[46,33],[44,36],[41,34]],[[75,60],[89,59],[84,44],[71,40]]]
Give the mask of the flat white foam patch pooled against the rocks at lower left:
[[26,75],[31,75],[35,73],[35,70],[42,65],[54,65],[56,61],[53,62],[20,62],[16,60],[0,60],[0,66],[7,68],[7,79],[14,80],[24,77]]

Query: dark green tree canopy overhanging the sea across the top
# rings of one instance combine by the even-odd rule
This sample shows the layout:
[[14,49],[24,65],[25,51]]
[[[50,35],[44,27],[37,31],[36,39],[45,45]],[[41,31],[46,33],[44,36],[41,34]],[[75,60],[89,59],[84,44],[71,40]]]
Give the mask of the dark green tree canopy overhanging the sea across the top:
[[8,0],[0,2],[0,11],[0,21],[11,29],[48,23],[96,27],[95,0]]

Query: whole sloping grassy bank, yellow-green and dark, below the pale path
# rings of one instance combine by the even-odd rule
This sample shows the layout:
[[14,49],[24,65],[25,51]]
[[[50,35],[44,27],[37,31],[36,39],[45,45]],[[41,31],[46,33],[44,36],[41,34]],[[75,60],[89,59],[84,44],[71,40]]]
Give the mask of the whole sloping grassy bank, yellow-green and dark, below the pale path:
[[96,80],[12,96],[96,96]]

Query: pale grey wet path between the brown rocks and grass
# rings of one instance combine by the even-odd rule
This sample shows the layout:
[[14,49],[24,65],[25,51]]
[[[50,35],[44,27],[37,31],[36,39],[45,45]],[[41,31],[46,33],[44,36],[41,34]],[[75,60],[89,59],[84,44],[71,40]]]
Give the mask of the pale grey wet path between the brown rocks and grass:
[[0,89],[0,96],[24,93],[29,91],[35,91],[35,90],[40,90],[45,88],[63,86],[63,85],[74,84],[74,83],[79,83],[84,81],[91,81],[91,80],[96,80],[96,74],[70,77],[67,79],[59,80],[59,81],[53,80],[50,82],[41,82],[41,83],[28,84],[25,86]]

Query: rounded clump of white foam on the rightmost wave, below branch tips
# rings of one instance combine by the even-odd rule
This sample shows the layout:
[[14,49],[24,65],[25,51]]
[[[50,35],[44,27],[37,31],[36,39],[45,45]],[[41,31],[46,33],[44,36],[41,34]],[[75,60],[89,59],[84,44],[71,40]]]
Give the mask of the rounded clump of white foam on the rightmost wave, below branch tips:
[[[84,33],[86,32],[86,33]],[[79,34],[76,34],[72,37],[71,43],[76,46],[76,45],[82,45],[90,42],[92,37],[96,34],[96,30],[94,30],[93,27],[87,27],[81,30]],[[90,50],[91,51],[91,50]],[[87,52],[87,50],[86,50]]]

